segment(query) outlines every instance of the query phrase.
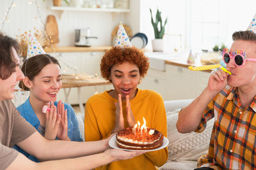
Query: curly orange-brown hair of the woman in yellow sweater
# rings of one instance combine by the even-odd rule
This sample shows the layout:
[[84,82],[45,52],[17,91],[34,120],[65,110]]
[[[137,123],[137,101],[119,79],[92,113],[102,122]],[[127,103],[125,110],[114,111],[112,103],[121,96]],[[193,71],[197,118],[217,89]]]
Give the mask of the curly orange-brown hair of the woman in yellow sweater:
[[101,59],[101,76],[111,82],[109,79],[111,68],[115,64],[122,64],[123,62],[129,62],[138,66],[141,78],[147,74],[149,62],[141,50],[136,47],[120,48],[119,46],[113,46]]

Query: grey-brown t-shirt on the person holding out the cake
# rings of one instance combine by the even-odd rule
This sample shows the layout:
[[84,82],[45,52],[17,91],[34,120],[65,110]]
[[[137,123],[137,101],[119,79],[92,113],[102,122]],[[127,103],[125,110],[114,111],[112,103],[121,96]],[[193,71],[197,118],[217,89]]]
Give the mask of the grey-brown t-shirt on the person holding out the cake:
[[12,147],[31,136],[36,129],[30,125],[10,100],[0,101],[0,169],[6,169],[17,157]]

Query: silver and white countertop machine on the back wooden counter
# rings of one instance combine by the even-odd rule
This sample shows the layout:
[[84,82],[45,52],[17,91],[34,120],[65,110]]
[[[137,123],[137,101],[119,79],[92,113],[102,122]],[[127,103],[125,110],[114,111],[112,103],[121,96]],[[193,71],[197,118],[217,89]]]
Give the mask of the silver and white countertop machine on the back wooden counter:
[[76,29],[75,33],[76,33],[75,46],[91,46],[90,39],[91,38],[97,39],[97,36],[90,36],[91,35],[90,27],[87,27],[87,29]]

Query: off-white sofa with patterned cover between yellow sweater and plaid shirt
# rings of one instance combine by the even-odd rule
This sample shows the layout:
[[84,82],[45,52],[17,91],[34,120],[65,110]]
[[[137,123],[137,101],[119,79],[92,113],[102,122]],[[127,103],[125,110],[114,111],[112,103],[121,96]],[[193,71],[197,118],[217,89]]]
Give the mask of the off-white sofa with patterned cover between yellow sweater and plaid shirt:
[[[192,100],[193,99],[164,101],[168,127],[169,157],[166,164],[159,167],[161,170],[195,169],[198,158],[204,155],[208,150],[214,119],[207,122],[207,127],[202,133],[190,132],[180,134],[176,128],[180,109],[188,106]],[[84,115],[77,115],[77,120],[84,139]]]

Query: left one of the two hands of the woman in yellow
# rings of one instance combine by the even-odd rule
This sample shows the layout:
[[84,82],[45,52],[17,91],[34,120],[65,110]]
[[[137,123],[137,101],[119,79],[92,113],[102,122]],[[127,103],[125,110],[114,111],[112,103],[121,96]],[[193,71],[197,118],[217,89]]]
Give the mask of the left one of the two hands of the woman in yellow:
[[124,129],[124,115],[123,115],[123,108],[122,108],[122,96],[118,94],[118,101],[115,103],[116,105],[116,123],[115,127],[112,129],[111,134]]

